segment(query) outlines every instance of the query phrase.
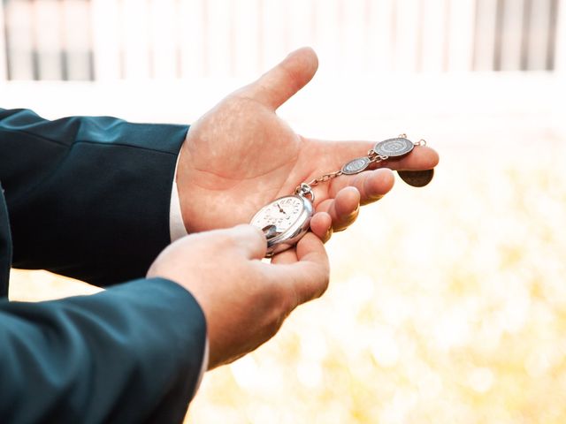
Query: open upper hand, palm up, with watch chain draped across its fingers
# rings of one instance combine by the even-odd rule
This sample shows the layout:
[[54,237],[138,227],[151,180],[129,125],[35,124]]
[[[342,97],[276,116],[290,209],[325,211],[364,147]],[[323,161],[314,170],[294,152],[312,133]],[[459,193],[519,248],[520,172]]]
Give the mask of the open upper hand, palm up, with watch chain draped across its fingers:
[[[228,95],[191,126],[181,149],[177,183],[189,232],[248,223],[267,202],[302,182],[340,170],[375,141],[324,141],[302,137],[275,113],[317,71],[312,49],[291,53],[249,86]],[[438,163],[431,148],[416,147],[389,161],[395,170],[427,170]],[[341,176],[315,188],[310,228],[321,239],[348,227],[360,204],[377,201],[394,184],[391,170]],[[332,224],[332,229],[331,229]]]

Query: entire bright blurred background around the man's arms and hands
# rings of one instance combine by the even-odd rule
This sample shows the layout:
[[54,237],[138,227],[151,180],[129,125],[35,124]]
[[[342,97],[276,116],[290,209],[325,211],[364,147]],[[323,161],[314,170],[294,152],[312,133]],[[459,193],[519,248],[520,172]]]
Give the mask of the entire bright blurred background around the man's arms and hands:
[[[187,420],[566,422],[564,1],[4,0],[0,106],[193,123],[302,45],[298,133],[407,132],[440,166],[333,236],[325,296],[207,373]],[[98,290],[11,275],[11,299]]]

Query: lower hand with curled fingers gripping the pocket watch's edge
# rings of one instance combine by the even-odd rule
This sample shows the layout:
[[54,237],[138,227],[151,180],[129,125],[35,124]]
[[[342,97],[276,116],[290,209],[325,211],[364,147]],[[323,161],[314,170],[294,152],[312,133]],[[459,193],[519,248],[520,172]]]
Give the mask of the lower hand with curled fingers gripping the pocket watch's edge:
[[298,305],[322,295],[328,258],[313,234],[278,261],[264,257],[266,240],[251,225],[179,239],[153,262],[148,277],[168,278],[203,308],[209,368],[232,362],[271,338]]

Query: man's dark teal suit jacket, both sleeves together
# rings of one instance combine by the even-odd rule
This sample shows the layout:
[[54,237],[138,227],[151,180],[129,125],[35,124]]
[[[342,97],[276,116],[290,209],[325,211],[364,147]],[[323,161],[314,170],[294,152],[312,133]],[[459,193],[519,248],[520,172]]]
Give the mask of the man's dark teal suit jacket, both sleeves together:
[[[143,276],[170,242],[186,133],[0,110],[0,422],[182,420],[206,322],[180,285]],[[93,296],[8,302],[11,263],[91,284],[134,281]]]

